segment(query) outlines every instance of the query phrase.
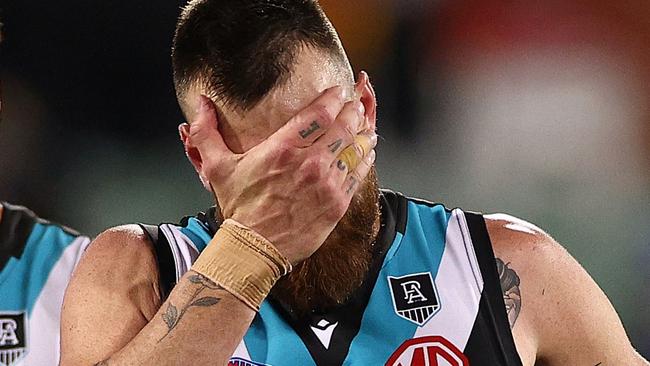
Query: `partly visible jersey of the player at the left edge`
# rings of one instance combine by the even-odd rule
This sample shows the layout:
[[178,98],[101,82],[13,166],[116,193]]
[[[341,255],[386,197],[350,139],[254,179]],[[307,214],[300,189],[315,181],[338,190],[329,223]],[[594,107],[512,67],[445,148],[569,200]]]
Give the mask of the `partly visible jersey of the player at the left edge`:
[[58,365],[63,294],[90,240],[0,204],[0,366]]

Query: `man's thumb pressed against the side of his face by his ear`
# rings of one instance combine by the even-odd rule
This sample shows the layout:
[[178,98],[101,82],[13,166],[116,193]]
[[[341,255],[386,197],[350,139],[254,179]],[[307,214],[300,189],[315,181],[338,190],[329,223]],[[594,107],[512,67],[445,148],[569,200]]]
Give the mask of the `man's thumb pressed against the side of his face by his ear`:
[[212,100],[205,95],[199,96],[199,107],[196,109],[194,121],[190,124],[189,143],[196,147],[201,156],[217,157],[233,155],[221,133],[219,133],[217,109]]

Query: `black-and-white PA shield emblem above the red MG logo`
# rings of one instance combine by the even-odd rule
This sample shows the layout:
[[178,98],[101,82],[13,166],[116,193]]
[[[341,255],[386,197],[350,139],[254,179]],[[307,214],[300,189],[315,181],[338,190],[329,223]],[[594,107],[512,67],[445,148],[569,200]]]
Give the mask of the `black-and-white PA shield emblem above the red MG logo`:
[[430,272],[388,276],[388,284],[395,312],[402,318],[422,326],[440,310],[438,291]]

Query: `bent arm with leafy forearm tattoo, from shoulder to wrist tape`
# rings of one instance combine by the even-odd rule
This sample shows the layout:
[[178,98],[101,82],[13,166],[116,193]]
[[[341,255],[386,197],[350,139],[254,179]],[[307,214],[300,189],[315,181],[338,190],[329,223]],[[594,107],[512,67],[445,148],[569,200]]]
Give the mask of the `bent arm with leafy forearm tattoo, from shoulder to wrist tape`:
[[156,258],[141,229],[103,233],[66,293],[61,365],[224,364],[255,315],[192,271],[160,305]]

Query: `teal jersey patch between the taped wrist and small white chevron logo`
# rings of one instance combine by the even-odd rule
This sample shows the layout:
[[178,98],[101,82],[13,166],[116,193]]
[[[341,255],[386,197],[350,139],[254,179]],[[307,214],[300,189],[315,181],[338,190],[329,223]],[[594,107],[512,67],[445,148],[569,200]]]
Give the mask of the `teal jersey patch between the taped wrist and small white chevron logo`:
[[255,362],[271,366],[315,365],[300,337],[268,301],[262,303],[244,343]]

